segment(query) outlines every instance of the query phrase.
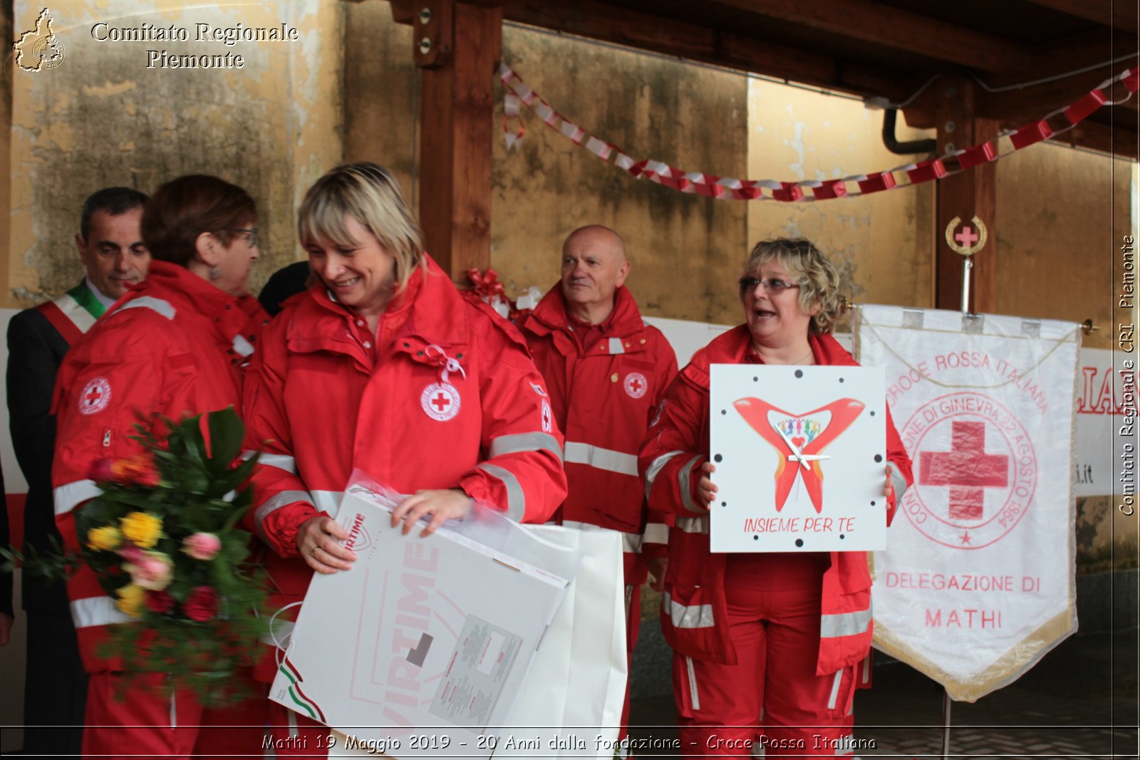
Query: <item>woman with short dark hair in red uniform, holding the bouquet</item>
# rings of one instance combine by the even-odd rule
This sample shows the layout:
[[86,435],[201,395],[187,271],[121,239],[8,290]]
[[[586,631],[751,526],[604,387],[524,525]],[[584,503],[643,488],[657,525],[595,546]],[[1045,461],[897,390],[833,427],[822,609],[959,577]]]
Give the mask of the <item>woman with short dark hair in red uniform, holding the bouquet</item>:
[[[58,424],[52,484],[64,545],[78,551],[76,513],[99,495],[89,479],[97,459],[141,452],[135,425],[165,435],[179,420],[241,408],[242,379],[267,316],[246,295],[258,260],[256,207],[236,185],[188,175],[154,194],[142,213],[149,275],[71,348],[56,386]],[[260,746],[263,701],[214,712],[189,693],[164,694],[162,673],[124,685],[130,663],[99,655],[107,628],[130,624],[91,569],[68,580],[83,664],[90,673],[83,754],[245,754]],[[203,725],[251,724],[250,730],[199,732]],[[177,727],[177,730],[174,728]]]

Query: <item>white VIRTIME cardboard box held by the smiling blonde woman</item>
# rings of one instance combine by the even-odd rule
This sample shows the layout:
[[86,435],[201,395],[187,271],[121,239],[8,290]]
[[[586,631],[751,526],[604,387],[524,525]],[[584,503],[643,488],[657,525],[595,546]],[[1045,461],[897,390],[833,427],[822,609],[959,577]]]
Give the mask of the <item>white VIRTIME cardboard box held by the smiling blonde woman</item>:
[[402,536],[400,497],[359,483],[337,512],[358,559],[314,577],[270,698],[336,729],[335,754],[488,758],[581,555],[491,510]]

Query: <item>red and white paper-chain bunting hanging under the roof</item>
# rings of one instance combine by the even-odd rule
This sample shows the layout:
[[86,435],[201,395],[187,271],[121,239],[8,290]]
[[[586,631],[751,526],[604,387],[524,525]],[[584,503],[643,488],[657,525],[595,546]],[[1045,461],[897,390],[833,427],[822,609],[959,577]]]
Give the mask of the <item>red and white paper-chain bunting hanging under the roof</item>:
[[[1091,92],[1066,108],[1058,108],[1039,121],[1026,124],[1020,129],[1008,130],[993,140],[987,140],[969,148],[952,150],[937,158],[928,158],[880,172],[853,174],[832,180],[801,180],[797,182],[783,182],[771,179],[740,180],[703,172],[686,172],[683,169],[677,169],[676,166],[670,166],[652,158],[635,161],[618,146],[589,134],[554,111],[538,93],[527,87],[526,82],[506,64],[499,66],[499,79],[507,90],[504,97],[503,131],[506,136],[506,147],[508,150],[518,145],[526,133],[520,114],[520,104],[524,104],[547,126],[570,138],[577,145],[585,146],[587,150],[602,161],[609,162],[612,158],[616,166],[629,172],[634,179],[644,177],[679,193],[705,195],[710,198],[724,201],[811,203],[813,201],[869,195],[882,190],[897,190],[912,185],[958,174],[961,171],[988,161],[1004,158],[1016,150],[1021,150],[1031,145],[1057,137],[1073,129],[1101,106],[1117,105],[1117,103],[1108,99],[1108,93],[1106,92],[1117,82],[1122,82],[1129,92],[1124,99],[1126,100],[1132,97],[1132,93],[1140,88],[1140,68],[1126,70],[1116,76],[1105,80]],[[1118,103],[1123,103],[1123,100]],[[516,123],[516,128],[513,130],[510,125],[511,120],[514,120]],[[999,141],[1009,147],[1000,149]]]

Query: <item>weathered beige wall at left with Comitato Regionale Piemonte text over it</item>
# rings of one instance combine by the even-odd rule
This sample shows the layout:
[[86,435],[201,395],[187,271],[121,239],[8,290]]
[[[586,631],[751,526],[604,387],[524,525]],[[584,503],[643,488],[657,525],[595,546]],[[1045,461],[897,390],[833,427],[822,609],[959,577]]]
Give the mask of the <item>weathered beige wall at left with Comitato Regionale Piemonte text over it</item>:
[[[15,2],[16,31],[42,5]],[[83,198],[108,185],[153,191],[185,173],[217,174],[258,202],[262,261],[253,287],[295,248],[299,193],[342,154],[341,3],[288,0],[187,7],[182,2],[51,7],[65,47],[50,71],[14,72],[11,221],[3,305],[28,305],[81,276],[72,243]],[[174,25],[189,41],[99,41],[95,30]],[[212,27],[296,27],[296,41],[197,41]],[[148,68],[147,50],[239,55],[242,68]]]

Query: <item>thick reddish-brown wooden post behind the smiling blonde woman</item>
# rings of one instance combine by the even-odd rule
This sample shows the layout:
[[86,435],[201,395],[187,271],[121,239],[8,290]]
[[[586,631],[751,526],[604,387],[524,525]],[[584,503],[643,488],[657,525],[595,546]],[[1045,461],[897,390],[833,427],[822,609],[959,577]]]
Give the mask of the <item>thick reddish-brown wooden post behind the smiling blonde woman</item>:
[[427,252],[453,280],[465,281],[467,269],[491,263],[491,114],[503,9],[455,0],[412,8],[420,223]]

